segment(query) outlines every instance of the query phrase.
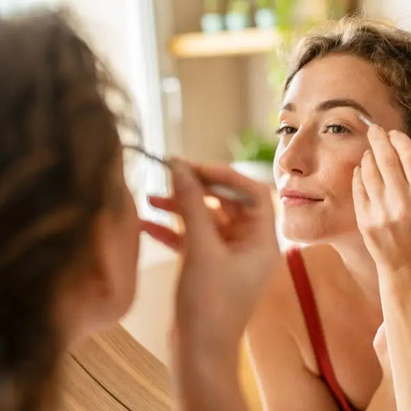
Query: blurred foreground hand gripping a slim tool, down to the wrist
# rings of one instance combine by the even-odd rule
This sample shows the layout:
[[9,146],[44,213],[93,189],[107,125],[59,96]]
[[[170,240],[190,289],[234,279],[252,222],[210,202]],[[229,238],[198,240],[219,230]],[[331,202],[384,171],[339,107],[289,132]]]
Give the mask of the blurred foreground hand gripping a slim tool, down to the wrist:
[[[279,262],[275,219],[268,186],[229,167],[175,163],[173,198],[151,198],[151,204],[182,216],[185,233],[146,223],[153,237],[184,254],[177,290],[177,327],[198,333],[212,345],[234,347],[245,329],[267,281]],[[207,194],[193,172],[251,196],[255,206],[220,199],[210,210]]]

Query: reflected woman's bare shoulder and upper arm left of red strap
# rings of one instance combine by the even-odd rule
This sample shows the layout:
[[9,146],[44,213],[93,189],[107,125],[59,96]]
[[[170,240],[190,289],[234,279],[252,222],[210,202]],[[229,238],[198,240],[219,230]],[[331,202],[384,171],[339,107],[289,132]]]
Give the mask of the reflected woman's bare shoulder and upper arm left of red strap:
[[[309,264],[323,253],[333,256],[327,248],[312,248],[303,250]],[[247,327],[247,340],[266,409],[336,409],[318,377],[285,254]]]

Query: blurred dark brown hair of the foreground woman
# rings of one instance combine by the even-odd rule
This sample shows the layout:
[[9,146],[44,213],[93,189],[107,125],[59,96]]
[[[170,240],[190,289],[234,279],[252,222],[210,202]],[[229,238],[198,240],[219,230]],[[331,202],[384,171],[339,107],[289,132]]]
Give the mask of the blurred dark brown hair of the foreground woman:
[[106,95],[127,97],[68,19],[0,19],[1,410],[39,410],[54,399],[57,292],[112,198],[120,155],[119,117]]

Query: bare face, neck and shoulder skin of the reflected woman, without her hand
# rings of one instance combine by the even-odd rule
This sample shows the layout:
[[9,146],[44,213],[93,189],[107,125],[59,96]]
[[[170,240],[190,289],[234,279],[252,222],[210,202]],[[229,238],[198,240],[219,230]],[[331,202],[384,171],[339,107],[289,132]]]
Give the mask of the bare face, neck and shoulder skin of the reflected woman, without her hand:
[[[293,110],[279,113],[274,174],[280,190],[322,199],[280,203],[280,228],[287,238],[310,245],[301,254],[336,379],[353,406],[366,410],[382,383],[373,340],[383,316],[375,264],[358,229],[351,187],[353,169],[370,146],[360,111],[316,110],[335,99],[360,104],[366,117],[386,130],[406,131],[390,88],[371,63],[344,54],[318,58],[295,75],[284,95],[283,105],[292,103]],[[337,409],[320,377],[285,256],[248,328],[269,409],[284,404],[296,411]],[[386,399],[389,406],[369,409],[394,410],[389,395]]]

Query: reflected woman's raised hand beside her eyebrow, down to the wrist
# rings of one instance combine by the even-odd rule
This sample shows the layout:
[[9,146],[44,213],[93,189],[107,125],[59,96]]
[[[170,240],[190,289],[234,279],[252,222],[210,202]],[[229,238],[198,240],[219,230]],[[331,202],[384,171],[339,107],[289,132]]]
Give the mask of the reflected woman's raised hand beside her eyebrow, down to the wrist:
[[[398,271],[411,267],[411,140],[373,125],[371,150],[353,175],[358,227],[377,267]],[[411,279],[411,275],[410,275]]]

